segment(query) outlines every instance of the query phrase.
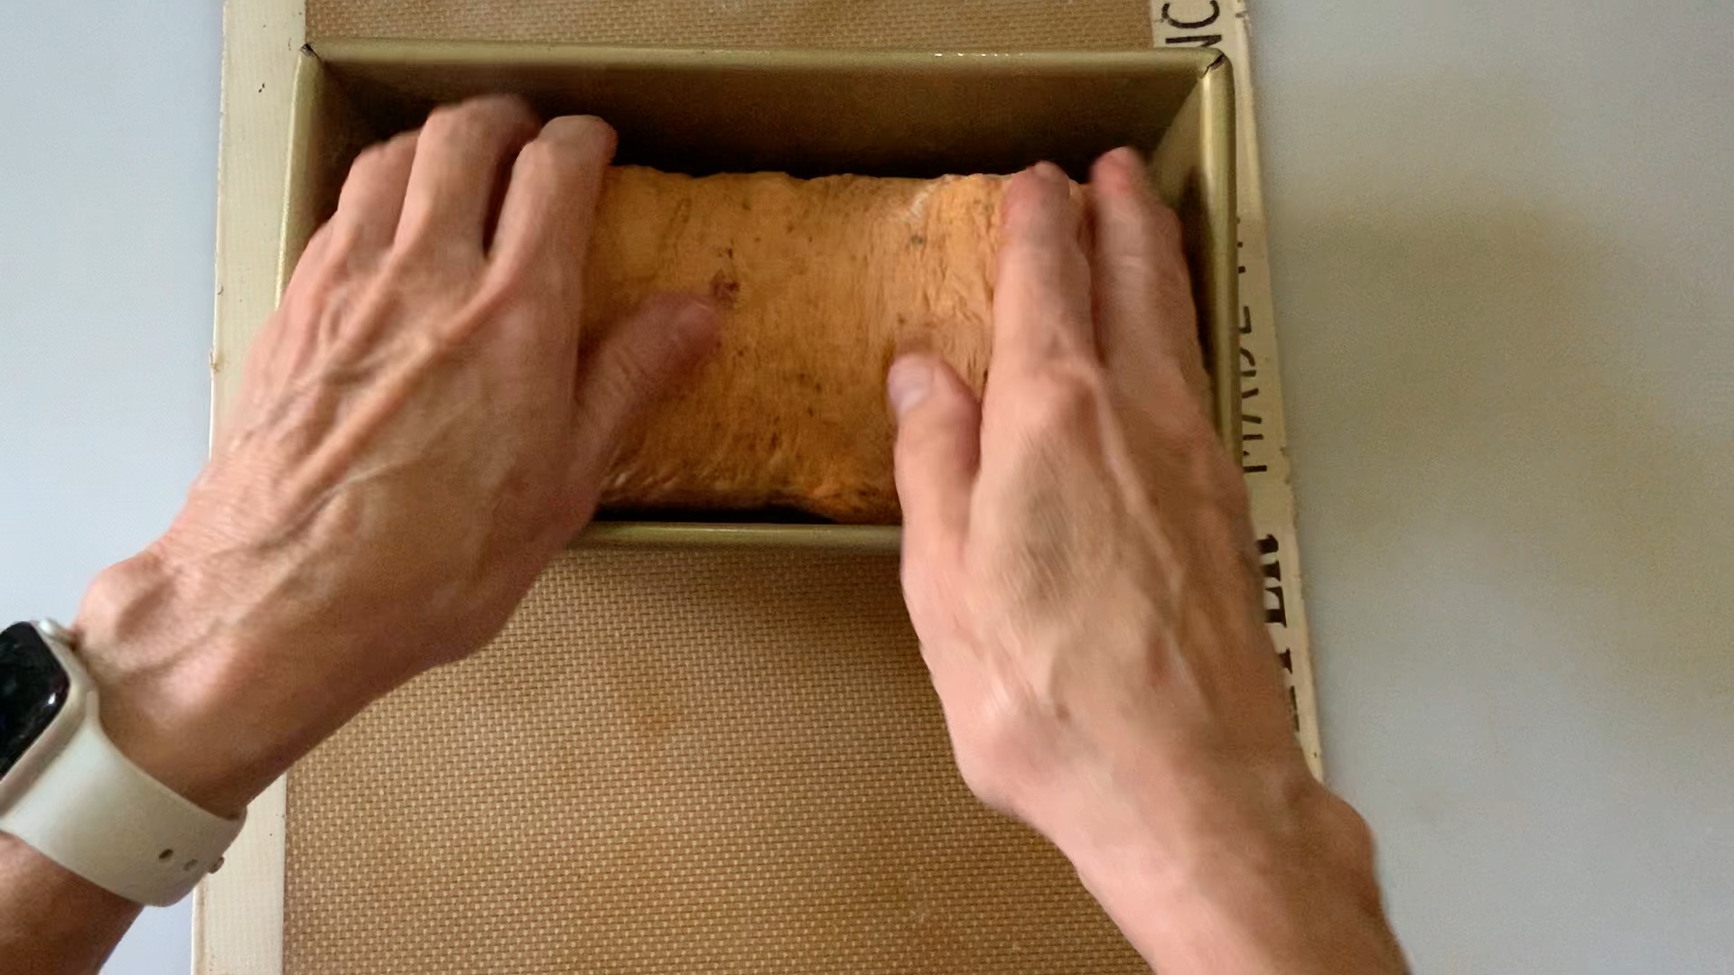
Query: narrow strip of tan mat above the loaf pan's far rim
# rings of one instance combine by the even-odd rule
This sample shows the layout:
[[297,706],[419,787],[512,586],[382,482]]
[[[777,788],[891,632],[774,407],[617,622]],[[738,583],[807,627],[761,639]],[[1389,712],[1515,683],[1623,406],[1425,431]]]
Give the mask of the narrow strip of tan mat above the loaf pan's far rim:
[[307,36],[668,47],[1150,47],[1143,0],[307,0]]

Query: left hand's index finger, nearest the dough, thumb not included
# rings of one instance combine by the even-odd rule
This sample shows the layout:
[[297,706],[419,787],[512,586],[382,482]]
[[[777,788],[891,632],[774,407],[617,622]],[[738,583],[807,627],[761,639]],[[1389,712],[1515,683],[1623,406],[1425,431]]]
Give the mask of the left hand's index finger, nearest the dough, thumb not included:
[[567,115],[518,149],[494,231],[496,264],[518,271],[583,269],[614,146],[607,121]]

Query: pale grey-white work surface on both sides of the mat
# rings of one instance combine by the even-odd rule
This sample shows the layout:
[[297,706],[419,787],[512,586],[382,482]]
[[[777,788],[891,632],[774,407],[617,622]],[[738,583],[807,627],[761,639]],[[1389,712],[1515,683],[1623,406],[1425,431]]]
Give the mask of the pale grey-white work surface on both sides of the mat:
[[[1254,12],[1325,758],[1417,972],[1734,972],[1734,7]],[[0,5],[5,621],[203,458],[218,50]]]

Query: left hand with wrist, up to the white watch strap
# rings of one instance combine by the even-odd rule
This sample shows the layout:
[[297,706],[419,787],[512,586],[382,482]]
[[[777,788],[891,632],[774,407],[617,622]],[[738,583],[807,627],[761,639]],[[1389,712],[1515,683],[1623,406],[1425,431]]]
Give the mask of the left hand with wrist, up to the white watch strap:
[[[234,814],[380,694],[494,635],[623,430],[714,344],[697,298],[579,335],[614,132],[513,99],[355,160],[173,527],[78,616],[116,744]],[[499,187],[505,187],[499,196]]]

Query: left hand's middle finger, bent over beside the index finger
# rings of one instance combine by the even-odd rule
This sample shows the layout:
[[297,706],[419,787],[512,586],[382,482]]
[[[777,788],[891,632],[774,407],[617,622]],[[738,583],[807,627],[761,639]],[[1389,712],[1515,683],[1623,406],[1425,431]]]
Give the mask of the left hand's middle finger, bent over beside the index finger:
[[501,172],[536,137],[536,115],[505,95],[434,109],[416,141],[397,243],[480,252]]

